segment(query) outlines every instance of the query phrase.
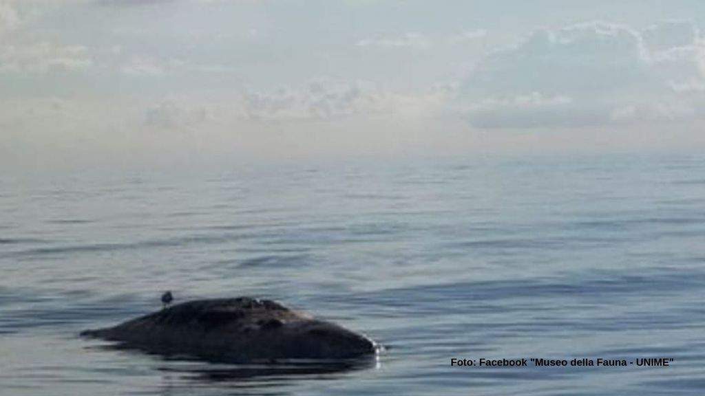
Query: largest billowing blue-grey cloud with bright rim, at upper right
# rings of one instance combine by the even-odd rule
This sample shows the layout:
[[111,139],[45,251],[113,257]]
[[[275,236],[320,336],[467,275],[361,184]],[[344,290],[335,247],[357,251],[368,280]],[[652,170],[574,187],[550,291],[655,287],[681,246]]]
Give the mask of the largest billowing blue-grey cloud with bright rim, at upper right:
[[644,32],[599,22],[538,30],[484,58],[458,99],[482,128],[696,117],[703,48],[692,25],[673,21]]

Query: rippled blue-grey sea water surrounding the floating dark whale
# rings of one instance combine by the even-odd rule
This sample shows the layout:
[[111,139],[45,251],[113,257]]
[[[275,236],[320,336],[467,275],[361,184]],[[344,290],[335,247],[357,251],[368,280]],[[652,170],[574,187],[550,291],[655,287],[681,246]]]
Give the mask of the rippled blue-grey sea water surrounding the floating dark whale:
[[[166,289],[271,297],[388,349],[362,369],[247,376],[78,338]],[[1,395],[701,395],[704,301],[705,157],[0,179]]]

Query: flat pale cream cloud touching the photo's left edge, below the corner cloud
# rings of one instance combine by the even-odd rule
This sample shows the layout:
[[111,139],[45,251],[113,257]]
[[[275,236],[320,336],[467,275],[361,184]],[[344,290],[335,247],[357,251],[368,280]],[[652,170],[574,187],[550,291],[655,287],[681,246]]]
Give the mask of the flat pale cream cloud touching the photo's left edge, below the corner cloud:
[[93,60],[82,46],[63,46],[49,42],[7,45],[0,49],[0,71],[46,73],[49,70],[80,70]]

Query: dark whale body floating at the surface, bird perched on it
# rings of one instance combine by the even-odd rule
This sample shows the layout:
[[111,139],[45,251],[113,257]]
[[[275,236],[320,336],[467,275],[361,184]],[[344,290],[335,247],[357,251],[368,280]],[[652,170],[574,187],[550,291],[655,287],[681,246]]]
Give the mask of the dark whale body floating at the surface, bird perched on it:
[[364,335],[250,297],[184,302],[81,335],[146,352],[228,362],[352,359],[377,352]]

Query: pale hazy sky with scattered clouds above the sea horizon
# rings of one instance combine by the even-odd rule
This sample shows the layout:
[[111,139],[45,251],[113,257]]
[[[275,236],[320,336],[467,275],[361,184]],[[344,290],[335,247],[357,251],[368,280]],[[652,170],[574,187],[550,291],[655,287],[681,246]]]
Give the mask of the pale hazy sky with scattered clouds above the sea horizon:
[[705,2],[0,0],[0,167],[701,151]]

